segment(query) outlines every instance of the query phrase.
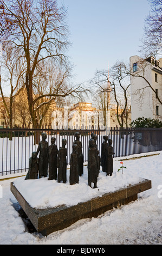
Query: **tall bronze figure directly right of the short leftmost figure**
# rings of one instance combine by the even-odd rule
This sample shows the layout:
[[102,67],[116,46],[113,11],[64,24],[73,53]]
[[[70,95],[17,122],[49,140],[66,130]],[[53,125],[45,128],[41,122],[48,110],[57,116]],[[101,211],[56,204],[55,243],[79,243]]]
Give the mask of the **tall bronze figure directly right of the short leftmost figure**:
[[39,155],[39,178],[48,175],[48,142],[46,141],[47,134],[42,132],[42,141],[38,144],[36,154]]

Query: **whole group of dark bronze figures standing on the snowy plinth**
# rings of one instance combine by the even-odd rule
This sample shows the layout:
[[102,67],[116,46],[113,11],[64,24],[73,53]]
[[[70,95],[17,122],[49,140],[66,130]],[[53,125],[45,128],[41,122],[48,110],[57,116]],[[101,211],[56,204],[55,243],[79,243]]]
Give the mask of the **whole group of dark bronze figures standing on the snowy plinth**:
[[[67,182],[67,140],[62,139],[62,147],[57,149],[55,144],[56,139],[51,138],[51,145],[48,145],[46,141],[47,134],[42,133],[42,141],[38,144],[36,152],[32,153],[29,159],[29,171],[25,179],[37,179],[42,176],[47,177],[48,180],[57,180],[57,182]],[[75,133],[75,141],[73,143],[73,153],[70,155],[70,185],[79,183],[79,176],[83,175],[83,154],[82,154],[82,142],[80,141],[80,133]],[[101,147],[101,159],[99,150],[97,148],[96,140],[97,136],[92,132],[91,139],[89,139],[88,146],[88,186],[97,187],[98,176],[100,173],[100,164],[102,171],[106,173],[106,176],[112,176],[113,173],[113,147],[112,139],[108,139],[108,136],[103,136],[104,142]],[[39,158],[37,155],[39,154]],[[58,168],[58,173],[57,173]]]

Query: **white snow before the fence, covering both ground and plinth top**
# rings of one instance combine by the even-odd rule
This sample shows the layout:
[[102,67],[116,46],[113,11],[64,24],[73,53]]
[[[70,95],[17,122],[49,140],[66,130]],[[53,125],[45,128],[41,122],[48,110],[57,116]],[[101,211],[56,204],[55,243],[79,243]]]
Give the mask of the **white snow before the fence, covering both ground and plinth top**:
[[[153,155],[158,154],[158,155]],[[150,156],[153,155],[153,156]],[[131,157],[147,156],[126,161]],[[66,184],[57,184],[56,181],[48,181],[47,178],[36,180],[35,186],[28,193],[28,201],[35,207],[49,207],[66,203],[68,205],[77,203],[77,200],[87,200],[96,194],[101,195],[104,191],[113,191],[120,186],[126,186],[130,182],[150,179],[151,190],[138,194],[138,200],[123,205],[118,209],[112,209],[98,218],[83,219],[77,221],[70,227],[55,231],[47,237],[41,234],[30,234],[18,215],[14,206],[17,203],[10,191],[10,182],[14,181],[22,193],[27,193],[27,183],[32,186],[33,181],[24,181],[20,178],[2,180],[0,179],[0,244],[1,245],[118,245],[118,244],[161,244],[162,243],[162,151],[122,157],[124,174],[118,171],[121,166],[121,158],[114,159],[113,176],[109,177],[100,171],[98,188],[94,190],[87,186],[87,167],[84,175],[80,177],[79,184],[70,186],[69,180]],[[26,173],[25,173],[26,174]],[[67,170],[69,177],[69,169]],[[24,183],[25,182],[25,183]],[[35,183],[34,183],[35,184]],[[49,184],[49,187],[47,186]],[[43,185],[47,194],[42,194],[38,202],[36,191]],[[45,189],[46,187],[46,189]],[[49,194],[50,188],[50,194]],[[42,190],[42,188],[41,188]],[[56,197],[60,190],[61,197]],[[33,197],[31,194],[33,193]],[[71,199],[69,194],[71,194]],[[34,197],[35,196],[35,197]],[[77,200],[76,200],[77,196]],[[35,199],[34,199],[35,198]]]

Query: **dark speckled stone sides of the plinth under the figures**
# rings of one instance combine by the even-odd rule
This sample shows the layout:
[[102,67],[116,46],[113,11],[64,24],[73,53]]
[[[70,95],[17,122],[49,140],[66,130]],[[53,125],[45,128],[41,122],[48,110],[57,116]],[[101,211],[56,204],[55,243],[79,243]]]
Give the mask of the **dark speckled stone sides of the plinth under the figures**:
[[139,184],[121,188],[112,193],[103,194],[102,197],[92,198],[91,200],[79,203],[74,206],[61,205],[56,208],[35,209],[31,208],[28,202],[22,197],[21,193],[11,182],[11,192],[14,194],[18,203],[27,214],[35,229],[42,235],[47,236],[56,230],[64,229],[81,220],[82,218],[92,218],[111,210],[116,206],[128,204],[137,200],[138,193],[149,190],[151,180],[144,180]]

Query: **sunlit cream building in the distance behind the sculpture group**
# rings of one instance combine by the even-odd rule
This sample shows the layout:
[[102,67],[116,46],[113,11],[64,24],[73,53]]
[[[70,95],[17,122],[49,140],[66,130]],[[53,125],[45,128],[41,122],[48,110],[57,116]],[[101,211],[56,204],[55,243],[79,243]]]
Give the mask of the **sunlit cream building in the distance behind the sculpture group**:
[[[131,122],[131,119],[128,123]],[[106,111],[106,126],[118,127],[116,106],[112,105]],[[92,107],[92,103],[79,102],[68,108],[55,108],[52,113],[54,129],[103,129],[103,111]]]

